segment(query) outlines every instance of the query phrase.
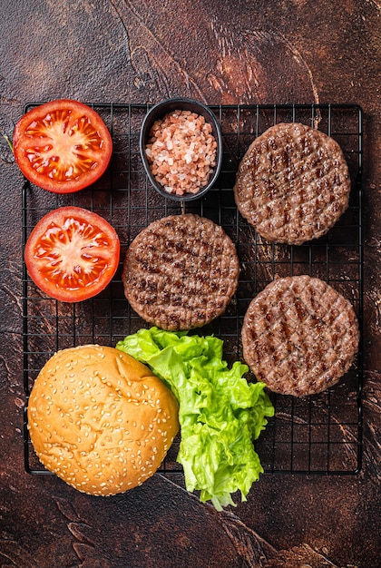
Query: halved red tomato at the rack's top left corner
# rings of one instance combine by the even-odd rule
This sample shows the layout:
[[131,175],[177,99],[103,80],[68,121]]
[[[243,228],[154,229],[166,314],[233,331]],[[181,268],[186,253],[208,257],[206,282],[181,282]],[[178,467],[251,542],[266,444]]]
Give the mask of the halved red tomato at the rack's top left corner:
[[97,181],[112,155],[102,118],[78,101],[34,107],[16,123],[15,161],[27,180],[54,193],[73,193]]

